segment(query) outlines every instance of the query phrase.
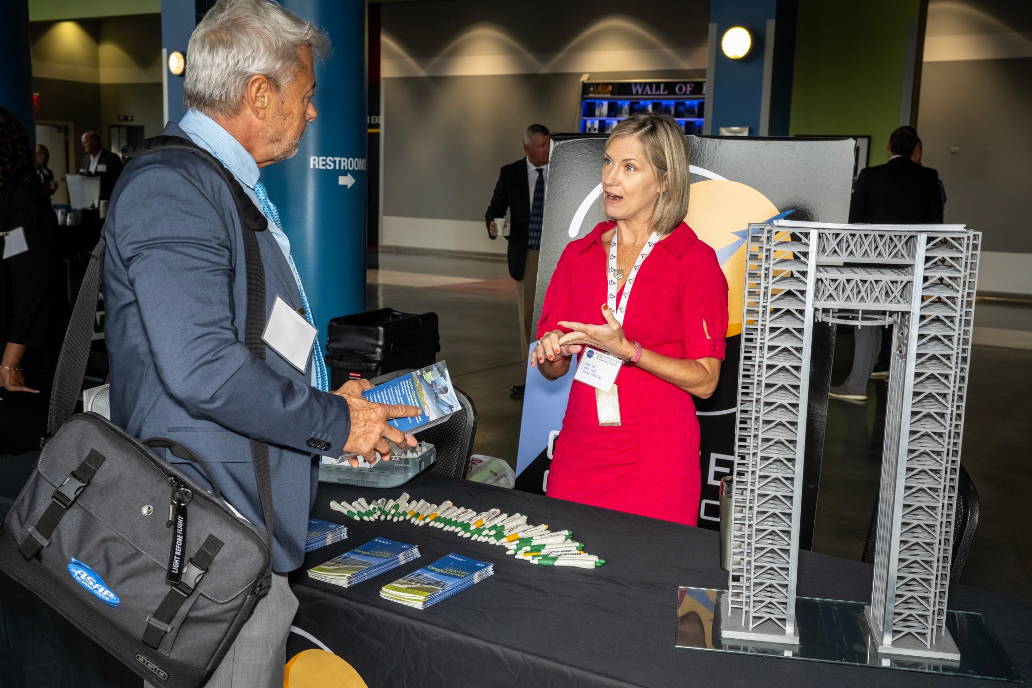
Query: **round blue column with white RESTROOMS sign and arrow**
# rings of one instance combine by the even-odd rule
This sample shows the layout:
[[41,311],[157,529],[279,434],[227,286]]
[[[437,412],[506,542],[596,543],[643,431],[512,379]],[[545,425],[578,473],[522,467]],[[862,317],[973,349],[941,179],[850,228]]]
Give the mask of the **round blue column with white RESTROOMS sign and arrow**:
[[365,0],[282,4],[333,44],[332,57],[316,62],[319,114],[297,155],[262,170],[325,341],[330,318],[365,309]]

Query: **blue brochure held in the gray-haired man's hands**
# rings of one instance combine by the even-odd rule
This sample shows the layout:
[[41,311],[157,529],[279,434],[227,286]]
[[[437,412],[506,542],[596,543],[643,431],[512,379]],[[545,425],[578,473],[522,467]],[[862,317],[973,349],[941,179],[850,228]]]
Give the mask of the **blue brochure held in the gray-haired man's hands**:
[[362,396],[378,403],[404,403],[422,408],[423,414],[418,418],[388,421],[406,433],[432,427],[461,408],[445,361],[377,385],[362,392]]

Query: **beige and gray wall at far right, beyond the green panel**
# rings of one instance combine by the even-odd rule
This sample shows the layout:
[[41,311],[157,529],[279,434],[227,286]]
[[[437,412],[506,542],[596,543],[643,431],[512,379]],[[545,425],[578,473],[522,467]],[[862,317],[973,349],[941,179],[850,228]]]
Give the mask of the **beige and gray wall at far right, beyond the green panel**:
[[978,289],[1032,294],[1032,3],[932,0],[917,131],[945,221],[982,232]]

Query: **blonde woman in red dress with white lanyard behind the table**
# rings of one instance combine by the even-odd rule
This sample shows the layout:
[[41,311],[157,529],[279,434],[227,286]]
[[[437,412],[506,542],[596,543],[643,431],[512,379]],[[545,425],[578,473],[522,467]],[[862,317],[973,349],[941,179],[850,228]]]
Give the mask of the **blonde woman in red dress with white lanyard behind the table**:
[[[549,380],[573,374],[574,354],[603,370],[594,387],[573,383],[550,497],[696,525],[691,395],[716,388],[728,283],[713,250],[683,222],[688,184],[684,134],[672,118],[633,114],[606,141],[611,220],[562,252],[530,362]],[[607,384],[600,361],[610,362],[610,373],[618,368],[613,388],[596,389]]]

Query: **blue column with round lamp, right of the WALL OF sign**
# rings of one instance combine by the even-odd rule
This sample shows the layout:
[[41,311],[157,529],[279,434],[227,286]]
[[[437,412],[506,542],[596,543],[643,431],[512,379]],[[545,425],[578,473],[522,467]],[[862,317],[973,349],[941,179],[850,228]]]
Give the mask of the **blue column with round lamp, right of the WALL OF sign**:
[[[749,31],[752,47],[733,60],[720,50],[720,41],[736,26]],[[715,51],[710,46],[707,73],[707,133],[718,136],[720,127],[748,127],[749,136],[787,136],[796,0],[711,0],[710,27],[716,45]]]

